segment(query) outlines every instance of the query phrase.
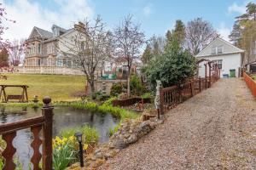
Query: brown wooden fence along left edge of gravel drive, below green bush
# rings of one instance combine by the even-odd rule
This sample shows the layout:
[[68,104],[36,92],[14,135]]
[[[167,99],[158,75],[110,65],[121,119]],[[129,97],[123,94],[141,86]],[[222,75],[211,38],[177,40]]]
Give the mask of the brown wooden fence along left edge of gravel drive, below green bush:
[[179,86],[160,89],[160,114],[172,109],[183,101],[210,88],[219,79],[219,71],[214,71],[211,77],[196,78]]

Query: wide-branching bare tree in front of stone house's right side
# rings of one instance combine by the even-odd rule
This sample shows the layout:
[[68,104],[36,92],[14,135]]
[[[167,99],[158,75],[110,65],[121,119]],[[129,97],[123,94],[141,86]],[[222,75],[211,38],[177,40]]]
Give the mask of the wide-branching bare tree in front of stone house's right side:
[[60,49],[61,54],[73,60],[84,72],[90,84],[91,93],[95,92],[96,71],[100,70],[102,62],[107,60],[113,51],[113,36],[105,30],[105,24],[98,16],[93,23],[89,20],[79,22],[71,37],[60,39],[66,50]]

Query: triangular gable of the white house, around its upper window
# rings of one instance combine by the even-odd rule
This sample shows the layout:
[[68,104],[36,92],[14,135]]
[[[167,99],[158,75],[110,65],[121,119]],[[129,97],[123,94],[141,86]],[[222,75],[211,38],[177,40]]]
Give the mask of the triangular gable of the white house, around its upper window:
[[[210,50],[213,44],[224,45],[224,53],[223,54],[237,54],[244,53],[244,50],[241,48],[237,48],[230,42],[225,41],[220,37],[216,37],[210,42],[207,47],[203,48],[199,54],[196,54],[195,57],[205,57],[205,56],[215,56],[215,55],[223,55],[223,54],[211,54]],[[227,50],[228,48],[228,50]]]

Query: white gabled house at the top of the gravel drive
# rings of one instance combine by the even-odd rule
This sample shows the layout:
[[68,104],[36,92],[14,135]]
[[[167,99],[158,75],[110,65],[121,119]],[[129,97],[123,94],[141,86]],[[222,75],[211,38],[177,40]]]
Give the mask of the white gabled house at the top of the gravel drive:
[[[216,37],[210,42],[206,48],[195,55],[196,59],[208,59],[213,63],[217,63],[220,69],[220,77],[224,74],[230,75],[230,70],[236,70],[236,77],[239,74],[239,68],[242,66],[244,50],[236,48],[230,42],[226,42],[220,37]],[[205,77],[204,62],[199,63],[198,76]]]

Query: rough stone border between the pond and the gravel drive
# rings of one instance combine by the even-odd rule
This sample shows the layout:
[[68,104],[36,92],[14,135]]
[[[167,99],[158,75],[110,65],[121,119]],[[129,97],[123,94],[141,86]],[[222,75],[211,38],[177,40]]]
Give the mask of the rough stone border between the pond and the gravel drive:
[[[93,153],[84,158],[84,168],[95,169],[100,167],[109,158],[119,153],[120,150],[136,143],[138,139],[141,139],[162,123],[163,120],[155,118],[151,118],[148,121],[125,120],[121,123],[118,132],[113,134],[107,144],[100,145]],[[79,162],[67,167],[67,170],[74,169],[80,169]]]

